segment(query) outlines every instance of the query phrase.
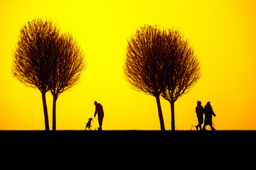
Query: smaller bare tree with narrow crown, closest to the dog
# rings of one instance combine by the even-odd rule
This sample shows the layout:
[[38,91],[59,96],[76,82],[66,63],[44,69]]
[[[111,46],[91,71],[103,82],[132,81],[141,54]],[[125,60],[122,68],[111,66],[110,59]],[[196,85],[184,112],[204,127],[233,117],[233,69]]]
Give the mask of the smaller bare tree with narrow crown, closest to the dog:
[[58,96],[75,86],[85,63],[78,42],[70,34],[59,38],[58,55],[53,56],[50,72],[50,93],[53,95],[53,130],[56,130],[56,101]]

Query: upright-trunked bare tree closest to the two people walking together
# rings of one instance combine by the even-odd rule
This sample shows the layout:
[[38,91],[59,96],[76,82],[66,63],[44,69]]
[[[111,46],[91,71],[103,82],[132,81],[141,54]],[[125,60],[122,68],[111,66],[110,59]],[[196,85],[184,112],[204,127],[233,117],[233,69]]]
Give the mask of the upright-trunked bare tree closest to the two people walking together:
[[166,42],[166,87],[161,96],[171,104],[171,130],[175,130],[174,102],[200,79],[200,62],[179,30],[169,29]]

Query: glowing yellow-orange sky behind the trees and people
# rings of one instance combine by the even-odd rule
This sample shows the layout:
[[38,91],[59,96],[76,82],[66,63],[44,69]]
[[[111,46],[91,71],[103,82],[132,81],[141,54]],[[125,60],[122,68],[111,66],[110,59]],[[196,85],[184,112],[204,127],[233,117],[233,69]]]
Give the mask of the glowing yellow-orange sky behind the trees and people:
[[[176,130],[197,125],[196,101],[213,106],[218,130],[256,130],[255,1],[1,1],[0,130],[44,130],[37,89],[11,76],[19,30],[33,18],[48,18],[72,33],[85,52],[80,84],[57,101],[57,130],[83,130],[95,111],[105,110],[103,130],[160,130],[153,96],[130,88],[124,79],[127,39],[144,24],[179,28],[201,61],[202,77],[175,103]],[[52,96],[47,95],[50,129]],[[161,99],[166,130],[171,108]],[[92,129],[98,127],[94,118]],[[195,130],[195,128],[194,128]]]

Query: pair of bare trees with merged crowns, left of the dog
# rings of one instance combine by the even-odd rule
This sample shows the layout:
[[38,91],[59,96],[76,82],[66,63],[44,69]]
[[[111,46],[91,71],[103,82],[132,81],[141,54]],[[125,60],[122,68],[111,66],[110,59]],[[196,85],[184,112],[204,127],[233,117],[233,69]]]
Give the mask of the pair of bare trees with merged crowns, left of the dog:
[[46,92],[50,91],[56,101],[59,94],[76,84],[84,68],[82,51],[72,36],[61,34],[52,21],[36,18],[21,28],[13,56],[14,77],[41,91],[49,130]]

